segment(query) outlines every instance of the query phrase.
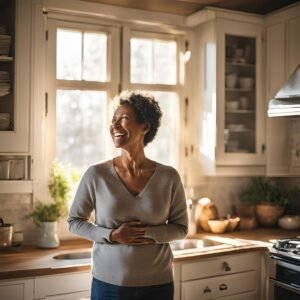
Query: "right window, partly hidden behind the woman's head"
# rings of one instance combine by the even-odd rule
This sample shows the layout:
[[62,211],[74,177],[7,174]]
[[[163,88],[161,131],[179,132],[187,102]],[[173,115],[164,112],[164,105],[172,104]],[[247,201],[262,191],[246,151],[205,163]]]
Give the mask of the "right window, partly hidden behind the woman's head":
[[[180,45],[170,34],[125,30],[125,89],[147,90],[159,102],[163,117],[145,152],[151,159],[178,167],[180,124]],[[127,47],[126,47],[127,46]],[[129,63],[128,63],[129,61]]]

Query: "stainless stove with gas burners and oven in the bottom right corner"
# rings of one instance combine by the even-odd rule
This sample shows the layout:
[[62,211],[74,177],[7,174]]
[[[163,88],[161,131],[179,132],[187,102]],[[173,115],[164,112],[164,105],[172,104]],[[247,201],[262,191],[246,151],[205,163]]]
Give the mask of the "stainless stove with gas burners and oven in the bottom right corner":
[[269,300],[300,299],[300,237],[270,247]]

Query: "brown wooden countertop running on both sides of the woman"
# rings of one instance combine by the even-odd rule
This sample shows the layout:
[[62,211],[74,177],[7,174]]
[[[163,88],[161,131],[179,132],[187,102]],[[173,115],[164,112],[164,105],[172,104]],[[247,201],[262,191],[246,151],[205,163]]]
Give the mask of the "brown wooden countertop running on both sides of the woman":
[[[282,229],[256,229],[225,234],[198,233],[194,238],[212,239],[225,243],[214,249],[180,250],[174,252],[174,260],[190,261],[220,255],[249,251],[267,251],[272,241],[295,237],[299,231]],[[56,249],[39,249],[21,246],[0,250],[0,279],[34,277],[90,270],[90,260],[56,260],[53,256],[69,252],[90,251],[92,243],[83,239],[62,241]]]

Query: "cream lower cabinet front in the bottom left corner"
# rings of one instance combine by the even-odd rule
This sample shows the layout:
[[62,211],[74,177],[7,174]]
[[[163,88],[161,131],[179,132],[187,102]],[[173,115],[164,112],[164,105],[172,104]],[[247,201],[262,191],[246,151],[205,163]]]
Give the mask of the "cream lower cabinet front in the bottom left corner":
[[1,280],[0,300],[32,300],[33,279]]

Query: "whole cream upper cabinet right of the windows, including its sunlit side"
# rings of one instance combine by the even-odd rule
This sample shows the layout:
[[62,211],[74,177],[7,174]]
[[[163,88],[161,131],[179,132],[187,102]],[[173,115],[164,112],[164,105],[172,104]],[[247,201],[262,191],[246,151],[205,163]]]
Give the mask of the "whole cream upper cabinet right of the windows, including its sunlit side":
[[262,22],[217,12],[195,30],[190,177],[265,172]]

